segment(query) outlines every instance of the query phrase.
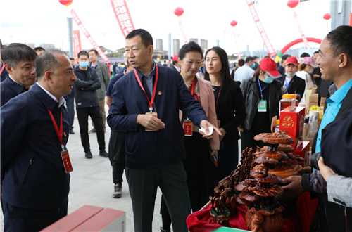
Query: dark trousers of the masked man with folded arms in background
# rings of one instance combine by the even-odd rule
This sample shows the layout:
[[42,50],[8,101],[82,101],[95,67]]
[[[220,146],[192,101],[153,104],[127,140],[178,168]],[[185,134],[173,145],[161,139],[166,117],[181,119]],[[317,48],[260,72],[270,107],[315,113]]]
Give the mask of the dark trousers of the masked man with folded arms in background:
[[80,124],[81,142],[84,152],[90,150],[89,136],[88,136],[88,116],[90,116],[95,124],[96,138],[98,138],[99,150],[105,150],[105,135],[103,129],[103,119],[99,106],[76,108],[78,122]]

